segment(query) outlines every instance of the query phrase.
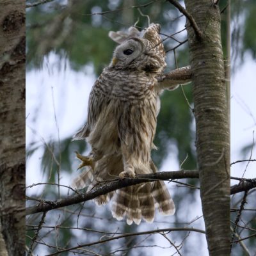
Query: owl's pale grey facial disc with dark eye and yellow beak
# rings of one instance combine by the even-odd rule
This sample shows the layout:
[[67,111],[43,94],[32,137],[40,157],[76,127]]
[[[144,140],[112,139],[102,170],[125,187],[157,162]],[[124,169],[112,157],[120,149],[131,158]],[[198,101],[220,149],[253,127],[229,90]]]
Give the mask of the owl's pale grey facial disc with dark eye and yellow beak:
[[140,38],[130,38],[116,47],[110,67],[132,67],[143,54],[144,44]]

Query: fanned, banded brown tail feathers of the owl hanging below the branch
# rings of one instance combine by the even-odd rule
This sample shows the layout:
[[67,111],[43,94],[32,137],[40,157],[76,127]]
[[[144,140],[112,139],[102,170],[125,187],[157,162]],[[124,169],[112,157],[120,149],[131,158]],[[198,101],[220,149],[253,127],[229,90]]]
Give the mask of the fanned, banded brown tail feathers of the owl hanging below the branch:
[[118,189],[113,196],[112,215],[117,220],[126,216],[128,225],[140,224],[141,218],[152,223],[155,207],[163,215],[173,215],[175,205],[163,181]]

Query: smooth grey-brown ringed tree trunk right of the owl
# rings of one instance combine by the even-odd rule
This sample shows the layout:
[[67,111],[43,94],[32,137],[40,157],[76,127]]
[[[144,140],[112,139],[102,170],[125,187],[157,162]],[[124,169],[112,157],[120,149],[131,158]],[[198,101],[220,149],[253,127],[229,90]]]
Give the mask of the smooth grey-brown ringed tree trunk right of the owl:
[[[210,255],[230,254],[230,136],[220,10],[209,0],[185,0],[202,38],[187,22],[200,195]],[[198,34],[198,33],[197,33]]]

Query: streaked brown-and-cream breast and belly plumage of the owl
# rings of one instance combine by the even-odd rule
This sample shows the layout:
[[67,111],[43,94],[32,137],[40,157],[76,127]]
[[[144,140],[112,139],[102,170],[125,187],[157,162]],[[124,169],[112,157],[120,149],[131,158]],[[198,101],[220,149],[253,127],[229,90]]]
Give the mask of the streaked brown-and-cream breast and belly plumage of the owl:
[[143,72],[111,71],[105,69],[93,87],[94,100],[104,103],[88,142],[102,154],[117,154],[125,145],[129,157],[148,163],[156,132],[157,81]]

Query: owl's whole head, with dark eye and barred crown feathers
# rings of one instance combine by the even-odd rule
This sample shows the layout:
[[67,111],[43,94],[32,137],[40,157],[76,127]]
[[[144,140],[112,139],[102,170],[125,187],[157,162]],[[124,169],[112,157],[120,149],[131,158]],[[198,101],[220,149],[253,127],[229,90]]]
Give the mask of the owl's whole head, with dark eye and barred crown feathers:
[[166,62],[159,31],[159,24],[151,24],[142,37],[131,37],[124,40],[116,47],[109,67],[162,73]]

